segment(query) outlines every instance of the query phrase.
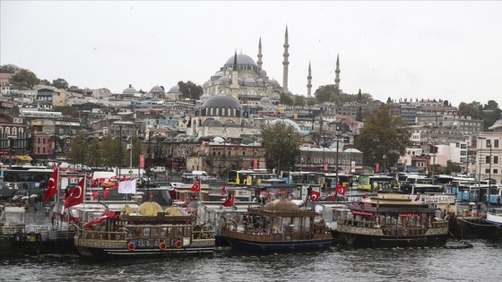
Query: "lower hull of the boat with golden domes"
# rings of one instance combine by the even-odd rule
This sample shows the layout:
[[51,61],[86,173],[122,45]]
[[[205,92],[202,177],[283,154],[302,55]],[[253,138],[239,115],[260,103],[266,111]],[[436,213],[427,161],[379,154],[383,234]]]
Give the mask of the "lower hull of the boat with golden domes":
[[166,248],[160,250],[159,247],[138,247],[134,250],[127,248],[125,240],[100,240],[88,239],[75,236],[74,244],[84,258],[103,259],[131,259],[134,257],[181,257],[210,255],[214,252],[213,239],[194,240],[190,245],[181,248]]

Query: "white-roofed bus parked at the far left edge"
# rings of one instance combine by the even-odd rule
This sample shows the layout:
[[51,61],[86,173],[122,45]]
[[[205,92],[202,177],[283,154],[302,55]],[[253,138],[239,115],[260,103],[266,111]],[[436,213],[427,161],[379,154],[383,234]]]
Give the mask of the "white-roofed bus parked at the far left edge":
[[[6,169],[2,170],[4,175],[2,181],[10,186],[24,189],[45,188],[50,175],[54,172],[50,168],[30,168],[30,169]],[[13,187],[15,188],[15,187]]]

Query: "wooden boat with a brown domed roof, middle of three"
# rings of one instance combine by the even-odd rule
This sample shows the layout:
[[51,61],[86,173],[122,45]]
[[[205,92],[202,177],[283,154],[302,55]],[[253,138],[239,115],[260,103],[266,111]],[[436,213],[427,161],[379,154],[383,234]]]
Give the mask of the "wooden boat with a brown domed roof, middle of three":
[[325,250],[333,237],[325,223],[315,223],[316,211],[300,209],[281,197],[263,209],[250,208],[247,213],[228,214],[221,228],[221,238],[232,250],[244,252],[282,252]]

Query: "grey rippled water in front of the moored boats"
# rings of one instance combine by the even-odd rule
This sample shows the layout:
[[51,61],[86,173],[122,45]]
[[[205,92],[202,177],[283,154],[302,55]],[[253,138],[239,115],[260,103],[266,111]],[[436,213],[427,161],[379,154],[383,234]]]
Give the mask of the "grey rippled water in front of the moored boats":
[[473,248],[461,250],[333,249],[264,256],[218,251],[212,257],[134,262],[52,255],[0,261],[0,281],[499,281],[502,240],[470,243]]

